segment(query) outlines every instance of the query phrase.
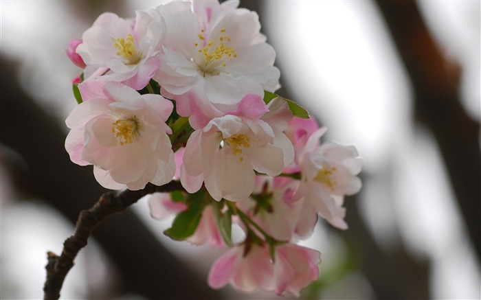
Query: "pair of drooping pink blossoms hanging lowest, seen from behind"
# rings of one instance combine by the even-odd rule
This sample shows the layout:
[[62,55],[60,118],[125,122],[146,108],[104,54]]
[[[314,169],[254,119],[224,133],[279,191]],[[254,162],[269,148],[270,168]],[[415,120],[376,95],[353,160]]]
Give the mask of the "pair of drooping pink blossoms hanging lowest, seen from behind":
[[319,278],[320,253],[295,244],[276,246],[274,261],[267,245],[253,245],[247,253],[236,246],[214,262],[209,273],[209,285],[221,288],[232,284],[243,292],[262,289],[282,295],[299,296],[300,290]]

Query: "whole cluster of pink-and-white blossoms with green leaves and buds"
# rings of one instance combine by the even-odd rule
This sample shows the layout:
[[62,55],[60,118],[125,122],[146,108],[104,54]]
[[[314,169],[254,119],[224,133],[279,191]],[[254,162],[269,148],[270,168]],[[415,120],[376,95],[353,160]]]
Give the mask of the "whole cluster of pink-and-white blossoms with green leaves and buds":
[[[317,216],[347,228],[362,161],[353,146],[321,143],[326,129],[273,93],[280,72],[255,12],[230,0],[104,13],[66,52],[83,69],[66,120],[71,161],[108,189],[180,181],[150,195],[150,211],[176,215],[174,240],[230,247],[212,288],[299,295],[319,277],[320,253],[295,241]],[[245,233],[236,244],[233,224]]]

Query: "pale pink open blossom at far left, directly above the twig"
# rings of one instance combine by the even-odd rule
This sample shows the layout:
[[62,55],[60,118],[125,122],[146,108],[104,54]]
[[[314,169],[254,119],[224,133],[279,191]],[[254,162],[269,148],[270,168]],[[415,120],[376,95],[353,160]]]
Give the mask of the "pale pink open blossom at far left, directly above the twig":
[[172,102],[140,95],[118,82],[84,82],[84,102],[65,121],[70,159],[93,165],[97,181],[109,189],[142,189],[172,180],[175,161],[165,124]]

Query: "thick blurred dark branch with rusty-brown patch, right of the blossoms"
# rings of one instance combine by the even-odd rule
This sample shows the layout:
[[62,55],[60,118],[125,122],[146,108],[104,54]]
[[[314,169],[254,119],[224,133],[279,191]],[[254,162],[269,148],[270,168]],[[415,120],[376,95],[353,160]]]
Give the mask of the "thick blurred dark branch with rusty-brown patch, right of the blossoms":
[[481,260],[480,124],[467,115],[460,103],[460,67],[440,53],[415,1],[376,3],[414,87],[416,117],[432,131],[438,143],[466,229]]

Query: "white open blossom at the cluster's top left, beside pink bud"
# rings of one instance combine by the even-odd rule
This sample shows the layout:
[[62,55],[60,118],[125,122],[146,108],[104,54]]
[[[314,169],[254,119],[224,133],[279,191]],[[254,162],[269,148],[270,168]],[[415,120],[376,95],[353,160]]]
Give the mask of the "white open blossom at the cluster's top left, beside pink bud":
[[153,9],[137,10],[135,20],[101,14],[76,48],[87,65],[85,79],[104,76],[143,89],[159,69],[164,32],[164,20]]

